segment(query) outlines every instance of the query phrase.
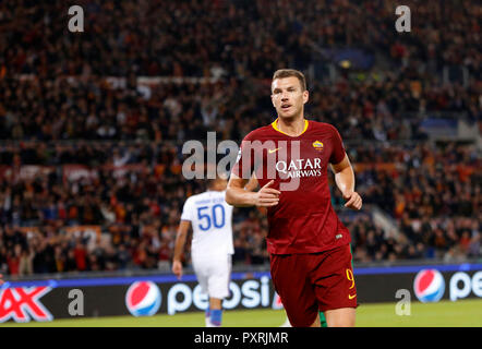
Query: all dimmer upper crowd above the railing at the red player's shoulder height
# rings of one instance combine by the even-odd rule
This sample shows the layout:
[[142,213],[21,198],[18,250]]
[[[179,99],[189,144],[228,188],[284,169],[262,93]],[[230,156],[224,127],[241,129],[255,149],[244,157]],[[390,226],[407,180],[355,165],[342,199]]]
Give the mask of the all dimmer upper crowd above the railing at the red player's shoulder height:
[[[329,60],[316,47],[344,46],[387,62],[357,80],[309,86],[308,112],[337,124],[346,139],[423,139],[417,116],[427,112],[480,120],[477,1],[413,2],[418,25],[410,35],[388,29],[395,1],[79,4],[82,34],[69,34],[67,19],[52,16],[67,16],[62,1],[0,4],[2,139],[182,141],[215,129],[239,140],[272,120],[266,97],[277,68],[304,70],[316,56]],[[468,70],[468,86],[442,82],[443,68],[454,64]],[[121,87],[109,88],[108,76],[123,79]],[[148,87],[138,76],[219,81]]]

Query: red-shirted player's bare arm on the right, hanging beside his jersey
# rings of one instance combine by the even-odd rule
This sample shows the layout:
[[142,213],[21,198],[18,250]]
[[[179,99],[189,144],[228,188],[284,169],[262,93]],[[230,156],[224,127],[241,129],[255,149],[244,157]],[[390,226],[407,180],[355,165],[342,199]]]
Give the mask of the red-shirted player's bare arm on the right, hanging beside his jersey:
[[362,198],[354,191],[354,172],[348,155],[345,153],[345,157],[340,163],[332,164],[332,169],[335,172],[336,185],[346,200],[345,207],[360,209],[362,207]]

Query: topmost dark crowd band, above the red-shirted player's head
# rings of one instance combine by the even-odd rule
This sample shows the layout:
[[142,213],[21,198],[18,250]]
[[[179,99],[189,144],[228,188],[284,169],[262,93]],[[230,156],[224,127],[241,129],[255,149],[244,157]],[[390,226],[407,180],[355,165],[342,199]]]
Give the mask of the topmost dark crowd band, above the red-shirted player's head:
[[[320,47],[362,47],[393,67],[481,73],[477,0],[406,1],[410,35],[395,31],[395,0],[79,0],[85,28],[70,34],[70,4],[23,0],[0,5],[3,64],[43,80],[67,75],[248,75],[312,60]],[[417,19],[417,20],[414,20]],[[433,67],[432,67],[433,65]]]

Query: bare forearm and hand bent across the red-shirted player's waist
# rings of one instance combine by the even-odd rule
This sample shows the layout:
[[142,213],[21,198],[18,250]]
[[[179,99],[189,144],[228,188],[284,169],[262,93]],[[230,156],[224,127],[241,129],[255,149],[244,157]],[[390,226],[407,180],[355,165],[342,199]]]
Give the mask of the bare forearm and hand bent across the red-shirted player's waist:
[[246,183],[248,180],[242,179],[234,173],[231,173],[228,182],[228,189],[226,190],[226,202],[237,207],[270,207],[279,203],[279,195],[281,194],[281,192],[277,191],[276,189],[269,188],[274,183],[273,180],[270,180],[257,192],[246,190]]

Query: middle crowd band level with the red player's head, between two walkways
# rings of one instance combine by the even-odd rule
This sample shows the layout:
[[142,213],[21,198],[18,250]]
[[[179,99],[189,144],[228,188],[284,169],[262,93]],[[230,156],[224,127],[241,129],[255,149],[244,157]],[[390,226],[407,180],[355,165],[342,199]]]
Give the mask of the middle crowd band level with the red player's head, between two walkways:
[[[420,121],[432,112],[481,119],[475,85],[417,86],[402,72],[383,81],[314,83],[306,113],[337,124],[346,139],[377,141],[423,140]],[[200,140],[207,131],[217,131],[221,139],[240,140],[273,119],[269,88],[250,81],[146,88],[148,97],[140,86],[132,92],[110,88],[94,77],[55,83],[0,80],[0,137],[160,142]]]

